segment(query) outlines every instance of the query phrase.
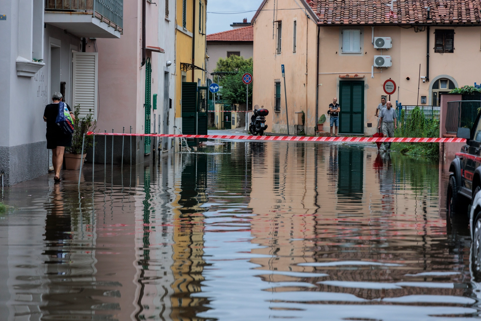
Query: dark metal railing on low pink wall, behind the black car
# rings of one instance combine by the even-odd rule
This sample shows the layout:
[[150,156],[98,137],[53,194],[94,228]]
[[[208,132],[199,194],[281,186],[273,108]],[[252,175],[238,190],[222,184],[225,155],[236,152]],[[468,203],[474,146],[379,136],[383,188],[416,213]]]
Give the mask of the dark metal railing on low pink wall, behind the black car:
[[448,133],[456,133],[457,128],[472,128],[481,110],[481,101],[464,100],[448,102],[444,128]]

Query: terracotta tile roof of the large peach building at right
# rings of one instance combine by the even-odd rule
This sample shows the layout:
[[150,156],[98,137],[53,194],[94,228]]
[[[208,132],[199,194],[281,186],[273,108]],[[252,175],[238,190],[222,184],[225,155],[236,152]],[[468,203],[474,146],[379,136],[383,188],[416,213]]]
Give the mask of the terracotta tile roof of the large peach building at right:
[[391,0],[305,1],[325,25],[481,23],[481,0],[396,0],[392,12]]

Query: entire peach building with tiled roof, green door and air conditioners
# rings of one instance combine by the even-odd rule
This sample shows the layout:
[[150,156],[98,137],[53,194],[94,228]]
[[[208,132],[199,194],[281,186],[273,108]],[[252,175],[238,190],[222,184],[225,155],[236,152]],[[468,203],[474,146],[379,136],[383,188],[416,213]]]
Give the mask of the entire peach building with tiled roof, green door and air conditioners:
[[479,81],[476,2],[265,0],[252,24],[253,103],[271,111],[274,132],[287,132],[281,64],[290,131],[304,111],[307,134],[333,97],[340,134],[373,134],[388,79],[396,88],[387,98],[403,105],[439,105],[441,93]]

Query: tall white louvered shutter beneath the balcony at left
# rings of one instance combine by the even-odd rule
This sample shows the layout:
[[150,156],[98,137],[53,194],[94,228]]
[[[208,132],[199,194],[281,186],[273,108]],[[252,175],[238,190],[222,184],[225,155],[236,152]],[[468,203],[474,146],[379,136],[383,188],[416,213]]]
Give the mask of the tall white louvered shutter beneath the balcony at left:
[[73,52],[72,60],[72,109],[80,105],[80,117],[92,109],[97,119],[98,53]]

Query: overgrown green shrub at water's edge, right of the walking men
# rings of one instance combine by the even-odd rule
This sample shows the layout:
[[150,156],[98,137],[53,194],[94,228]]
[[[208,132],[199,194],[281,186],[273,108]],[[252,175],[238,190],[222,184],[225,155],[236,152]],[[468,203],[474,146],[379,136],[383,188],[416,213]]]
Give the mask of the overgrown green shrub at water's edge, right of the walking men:
[[[424,112],[418,106],[411,110],[407,117],[403,109],[394,136],[439,137],[439,119],[435,117],[426,118]],[[439,143],[437,142],[392,143],[391,149],[403,154],[415,154],[431,159],[439,158]]]

